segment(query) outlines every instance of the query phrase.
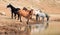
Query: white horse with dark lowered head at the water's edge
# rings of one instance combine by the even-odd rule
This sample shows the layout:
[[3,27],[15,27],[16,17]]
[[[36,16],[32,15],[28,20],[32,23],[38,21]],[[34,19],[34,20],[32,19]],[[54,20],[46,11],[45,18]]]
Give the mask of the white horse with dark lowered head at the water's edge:
[[47,21],[49,21],[49,15],[47,13],[43,13],[41,10],[34,10],[34,15],[36,15],[36,20],[38,21],[38,17],[42,17],[42,21],[44,21],[44,18],[47,18]]

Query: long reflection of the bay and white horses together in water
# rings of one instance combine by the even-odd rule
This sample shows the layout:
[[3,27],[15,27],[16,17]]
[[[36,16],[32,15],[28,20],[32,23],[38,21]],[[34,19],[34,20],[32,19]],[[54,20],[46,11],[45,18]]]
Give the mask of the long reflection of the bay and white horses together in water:
[[31,24],[31,25],[21,27],[20,30],[23,31],[24,33],[20,33],[20,34],[31,35],[33,33],[44,31],[47,28],[48,28],[48,22],[39,23],[39,24]]

